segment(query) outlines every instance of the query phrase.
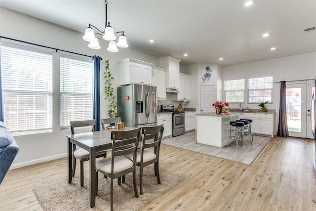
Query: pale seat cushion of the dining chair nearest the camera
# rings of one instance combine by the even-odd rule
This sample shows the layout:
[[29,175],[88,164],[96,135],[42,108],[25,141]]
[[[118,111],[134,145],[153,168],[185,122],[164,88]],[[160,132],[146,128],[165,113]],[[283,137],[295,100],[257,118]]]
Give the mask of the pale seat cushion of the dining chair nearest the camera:
[[[95,162],[95,167],[97,170],[101,170],[105,173],[110,174],[111,173],[111,163],[112,158],[104,158],[102,160],[98,160]],[[125,169],[129,169],[133,167],[133,162],[129,159],[125,158],[124,156],[118,156],[114,158],[114,173],[123,171]]]

